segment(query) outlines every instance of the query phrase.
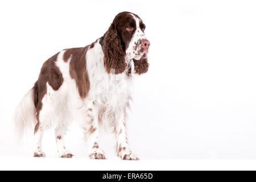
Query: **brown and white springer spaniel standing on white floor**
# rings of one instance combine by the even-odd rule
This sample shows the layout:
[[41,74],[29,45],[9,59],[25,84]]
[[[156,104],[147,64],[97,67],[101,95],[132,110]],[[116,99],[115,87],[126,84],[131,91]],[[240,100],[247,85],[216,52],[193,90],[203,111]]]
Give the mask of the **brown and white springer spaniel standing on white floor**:
[[45,156],[41,141],[44,130],[51,126],[59,156],[71,158],[63,140],[75,119],[84,131],[90,159],[106,158],[98,145],[99,129],[104,125],[117,137],[117,155],[138,160],[129,147],[126,122],[133,73],[148,70],[150,42],[144,29],[138,15],[119,13],[96,42],[64,49],[43,64],[38,81],[20,102],[14,118],[20,131],[34,125],[35,157]]

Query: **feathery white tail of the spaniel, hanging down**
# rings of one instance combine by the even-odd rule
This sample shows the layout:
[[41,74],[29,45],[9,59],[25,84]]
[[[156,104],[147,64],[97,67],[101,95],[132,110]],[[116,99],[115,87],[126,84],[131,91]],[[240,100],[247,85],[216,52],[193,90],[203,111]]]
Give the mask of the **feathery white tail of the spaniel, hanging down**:
[[38,97],[38,84],[27,92],[22,101],[16,107],[14,113],[14,128],[17,137],[22,138],[24,131],[28,128],[35,127],[36,119],[36,101]]

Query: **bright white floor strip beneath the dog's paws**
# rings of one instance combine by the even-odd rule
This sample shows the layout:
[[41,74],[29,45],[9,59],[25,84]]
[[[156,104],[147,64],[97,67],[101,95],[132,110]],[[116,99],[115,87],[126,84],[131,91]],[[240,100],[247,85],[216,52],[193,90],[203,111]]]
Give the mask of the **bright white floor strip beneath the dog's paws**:
[[0,157],[0,170],[255,170],[256,160],[89,160]]

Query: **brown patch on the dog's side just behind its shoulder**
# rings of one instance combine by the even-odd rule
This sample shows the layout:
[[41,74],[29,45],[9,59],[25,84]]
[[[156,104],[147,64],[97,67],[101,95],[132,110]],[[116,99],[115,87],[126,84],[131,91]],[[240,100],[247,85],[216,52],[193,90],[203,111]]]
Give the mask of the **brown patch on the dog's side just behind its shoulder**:
[[85,59],[87,50],[88,46],[66,50],[67,57],[72,55],[69,64],[69,72],[71,77],[76,80],[77,89],[81,98],[85,98],[87,96],[90,88]]

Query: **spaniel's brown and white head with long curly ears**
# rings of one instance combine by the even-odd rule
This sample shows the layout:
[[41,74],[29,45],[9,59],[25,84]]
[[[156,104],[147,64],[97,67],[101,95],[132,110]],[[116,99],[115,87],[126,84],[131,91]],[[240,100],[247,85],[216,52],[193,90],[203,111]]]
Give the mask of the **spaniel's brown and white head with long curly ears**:
[[111,69],[114,69],[115,74],[124,72],[130,60],[143,67],[143,70],[136,70],[135,67],[136,73],[147,72],[150,42],[144,34],[145,28],[138,15],[122,12],[115,16],[102,40],[104,65],[108,73]]

